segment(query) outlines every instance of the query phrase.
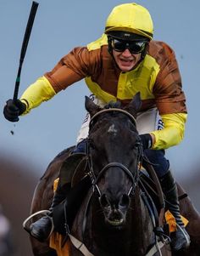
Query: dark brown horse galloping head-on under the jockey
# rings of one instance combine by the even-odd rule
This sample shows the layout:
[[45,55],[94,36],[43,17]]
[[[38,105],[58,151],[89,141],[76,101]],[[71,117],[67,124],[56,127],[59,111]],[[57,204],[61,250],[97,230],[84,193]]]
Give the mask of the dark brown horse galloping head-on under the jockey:
[[[168,246],[161,249],[162,254],[154,246],[158,245],[154,233],[154,215],[140,185],[142,147],[135,119],[140,105],[139,94],[123,110],[102,110],[86,98],[86,110],[92,117],[86,152],[92,189],[88,191],[75,216],[70,234],[83,242],[91,255],[142,256],[152,248],[155,253],[149,255],[171,255]],[[47,168],[36,187],[31,213],[49,207],[53,196],[53,180],[58,177],[58,170],[68,155],[69,151],[64,151]],[[180,193],[184,194],[181,188]],[[189,199],[184,200],[192,208]],[[192,246],[180,255],[199,255],[200,236],[192,226],[199,225],[199,215],[193,208],[189,215],[186,212],[184,214],[186,218],[190,217],[189,220],[192,219],[188,225]],[[31,244],[35,256],[57,255],[47,243],[31,238]],[[84,254],[69,242],[69,255]]]

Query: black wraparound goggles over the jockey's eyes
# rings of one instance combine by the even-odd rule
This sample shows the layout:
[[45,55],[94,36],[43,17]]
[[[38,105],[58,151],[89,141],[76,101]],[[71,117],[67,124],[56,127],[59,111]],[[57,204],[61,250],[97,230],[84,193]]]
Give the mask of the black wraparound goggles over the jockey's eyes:
[[145,49],[147,41],[123,41],[111,39],[112,48],[117,52],[124,52],[128,48],[131,54],[140,54]]

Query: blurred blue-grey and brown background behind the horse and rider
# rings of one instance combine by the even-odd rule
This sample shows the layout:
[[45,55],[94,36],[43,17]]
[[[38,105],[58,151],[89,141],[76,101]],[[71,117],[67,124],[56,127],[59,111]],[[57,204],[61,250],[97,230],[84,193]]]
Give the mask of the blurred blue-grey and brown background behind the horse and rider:
[[[25,55],[19,96],[37,77],[50,71],[71,48],[86,45],[100,37],[111,9],[117,4],[127,3],[117,0],[37,2],[40,4]],[[20,48],[31,3],[29,0],[0,1],[0,204],[11,227],[8,236],[12,237],[12,244],[9,247],[10,250],[13,247],[14,256],[31,255],[28,235],[22,229],[22,223],[29,215],[36,183],[58,152],[75,145],[76,134],[86,114],[84,96],[89,94],[85,82],[77,82],[53,100],[21,117],[19,122],[4,119],[3,105],[14,94]],[[180,66],[189,115],[185,139],[181,145],[169,149],[167,156],[176,179],[200,210],[197,134],[200,2],[138,0],[136,3],[150,11],[154,39],[169,43],[174,48]]]

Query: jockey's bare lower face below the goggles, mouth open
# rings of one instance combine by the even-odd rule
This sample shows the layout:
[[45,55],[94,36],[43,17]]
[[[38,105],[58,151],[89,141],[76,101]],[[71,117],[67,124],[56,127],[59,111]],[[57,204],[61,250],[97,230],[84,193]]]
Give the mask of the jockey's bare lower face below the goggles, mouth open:
[[125,48],[123,52],[113,49],[113,56],[121,71],[131,71],[141,60],[141,53],[131,54],[128,48]]

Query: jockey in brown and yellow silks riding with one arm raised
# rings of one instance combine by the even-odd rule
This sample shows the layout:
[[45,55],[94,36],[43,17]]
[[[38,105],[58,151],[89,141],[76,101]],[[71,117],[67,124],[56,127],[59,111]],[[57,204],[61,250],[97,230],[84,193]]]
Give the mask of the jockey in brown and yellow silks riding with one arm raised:
[[[171,233],[171,247],[178,251],[188,247],[190,237],[182,223],[175,179],[164,150],[181,143],[186,122],[186,99],[175,53],[164,42],[153,41],[153,20],[144,7],[136,3],[116,6],[108,15],[103,36],[86,47],[77,47],[65,55],[52,71],[48,71],[28,87],[20,100],[8,100],[4,116],[19,121],[43,101],[85,78],[97,105],[119,100],[122,105],[141,93],[142,109],[137,128],[148,159],[157,163],[155,171],[162,185],[169,211],[177,225]],[[84,151],[89,118],[81,127],[75,152]],[[53,204],[64,199],[57,190]],[[31,234],[44,241],[51,229],[48,217],[31,225]]]

